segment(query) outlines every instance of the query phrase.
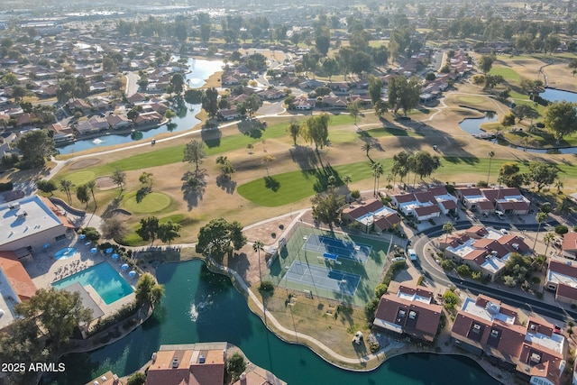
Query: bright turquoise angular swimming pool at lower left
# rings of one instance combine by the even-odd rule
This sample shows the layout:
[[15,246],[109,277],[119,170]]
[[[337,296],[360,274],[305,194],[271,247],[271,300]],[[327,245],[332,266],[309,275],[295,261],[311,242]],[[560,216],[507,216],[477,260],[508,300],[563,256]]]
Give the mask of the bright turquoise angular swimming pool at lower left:
[[76,274],[52,283],[52,286],[56,289],[64,289],[75,282],[82,286],[91,285],[106,305],[133,292],[128,282],[108,262],[98,263],[86,270],[78,271]]

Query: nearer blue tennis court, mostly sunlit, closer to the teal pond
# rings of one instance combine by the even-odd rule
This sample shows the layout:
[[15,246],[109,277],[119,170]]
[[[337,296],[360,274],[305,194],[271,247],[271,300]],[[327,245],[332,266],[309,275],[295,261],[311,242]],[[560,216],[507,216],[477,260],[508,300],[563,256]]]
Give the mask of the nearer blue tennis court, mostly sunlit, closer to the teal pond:
[[361,276],[341,270],[331,270],[323,266],[308,265],[301,261],[293,261],[289,271],[287,271],[286,279],[353,297],[361,281]]

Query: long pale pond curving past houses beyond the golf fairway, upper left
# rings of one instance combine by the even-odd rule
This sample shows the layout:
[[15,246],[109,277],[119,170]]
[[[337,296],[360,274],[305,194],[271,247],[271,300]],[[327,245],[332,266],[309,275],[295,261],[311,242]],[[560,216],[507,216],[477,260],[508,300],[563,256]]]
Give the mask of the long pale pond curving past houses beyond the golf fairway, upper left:
[[[190,87],[198,88],[205,85],[205,79],[222,69],[223,62],[216,60],[188,59],[189,72],[185,74],[185,81]],[[59,147],[57,150],[61,154],[69,154],[78,151],[85,151],[95,147],[106,147],[114,144],[124,144],[128,142],[150,139],[160,133],[177,133],[191,129],[200,120],[196,115],[200,112],[200,105],[189,105],[183,103],[179,115],[172,118],[171,124],[163,124],[160,127],[146,131],[124,134],[103,135],[98,138],[91,138],[70,143],[67,146]]]

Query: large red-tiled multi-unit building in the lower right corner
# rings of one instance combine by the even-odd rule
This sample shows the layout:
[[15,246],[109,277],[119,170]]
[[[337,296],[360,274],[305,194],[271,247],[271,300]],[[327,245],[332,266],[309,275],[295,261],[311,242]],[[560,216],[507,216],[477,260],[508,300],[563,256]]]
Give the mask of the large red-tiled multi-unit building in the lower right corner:
[[482,354],[535,385],[558,385],[563,373],[567,344],[554,325],[530,316],[527,325],[518,311],[497,299],[480,295],[466,298],[455,317],[453,344]]

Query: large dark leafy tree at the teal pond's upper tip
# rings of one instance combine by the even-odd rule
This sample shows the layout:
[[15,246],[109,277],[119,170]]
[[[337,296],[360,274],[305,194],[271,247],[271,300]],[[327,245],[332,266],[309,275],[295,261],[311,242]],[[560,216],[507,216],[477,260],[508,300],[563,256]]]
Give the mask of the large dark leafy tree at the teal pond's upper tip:
[[196,252],[221,259],[225,252],[232,252],[231,243],[234,243],[234,250],[240,250],[246,244],[243,225],[236,221],[229,223],[224,218],[213,219],[200,228]]

